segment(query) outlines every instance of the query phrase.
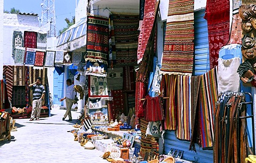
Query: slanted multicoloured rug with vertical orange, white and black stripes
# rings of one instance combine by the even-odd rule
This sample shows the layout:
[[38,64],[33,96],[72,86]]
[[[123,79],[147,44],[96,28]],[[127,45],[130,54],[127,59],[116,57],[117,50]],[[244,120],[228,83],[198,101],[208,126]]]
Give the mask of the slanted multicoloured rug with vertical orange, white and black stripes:
[[199,90],[200,98],[200,126],[202,135],[202,148],[212,148],[214,137],[215,102],[218,100],[217,74],[218,67],[211,69],[201,76]]

